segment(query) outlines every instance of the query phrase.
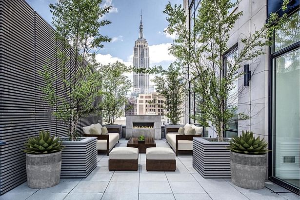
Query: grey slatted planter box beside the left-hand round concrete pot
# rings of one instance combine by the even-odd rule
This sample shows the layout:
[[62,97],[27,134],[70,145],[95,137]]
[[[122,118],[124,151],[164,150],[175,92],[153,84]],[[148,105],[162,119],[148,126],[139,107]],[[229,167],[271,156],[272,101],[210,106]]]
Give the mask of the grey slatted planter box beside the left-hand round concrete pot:
[[[61,138],[66,139],[66,138]],[[86,178],[97,166],[97,138],[62,141],[60,178]]]

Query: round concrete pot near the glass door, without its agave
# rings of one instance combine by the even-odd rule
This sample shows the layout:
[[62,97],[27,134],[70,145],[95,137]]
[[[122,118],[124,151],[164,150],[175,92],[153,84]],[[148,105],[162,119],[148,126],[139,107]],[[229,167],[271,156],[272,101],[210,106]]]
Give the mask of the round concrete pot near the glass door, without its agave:
[[248,155],[230,152],[231,181],[248,188],[264,188],[267,170],[267,154]]

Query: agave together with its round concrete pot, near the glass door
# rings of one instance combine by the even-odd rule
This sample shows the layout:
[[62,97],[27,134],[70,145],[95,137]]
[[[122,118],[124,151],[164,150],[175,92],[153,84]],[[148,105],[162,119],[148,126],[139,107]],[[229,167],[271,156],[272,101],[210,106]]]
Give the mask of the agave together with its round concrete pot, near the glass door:
[[232,183],[248,189],[264,188],[268,152],[264,139],[254,138],[252,131],[242,131],[240,137],[232,138],[228,149]]

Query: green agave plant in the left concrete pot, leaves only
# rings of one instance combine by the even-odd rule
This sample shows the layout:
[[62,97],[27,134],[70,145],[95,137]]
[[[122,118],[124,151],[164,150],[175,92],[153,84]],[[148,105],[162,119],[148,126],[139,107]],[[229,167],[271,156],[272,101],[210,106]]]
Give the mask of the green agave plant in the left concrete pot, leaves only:
[[61,151],[60,138],[54,139],[54,136],[50,137],[48,131],[40,131],[40,135],[35,138],[29,138],[25,143],[26,149],[24,152],[28,154],[50,154]]

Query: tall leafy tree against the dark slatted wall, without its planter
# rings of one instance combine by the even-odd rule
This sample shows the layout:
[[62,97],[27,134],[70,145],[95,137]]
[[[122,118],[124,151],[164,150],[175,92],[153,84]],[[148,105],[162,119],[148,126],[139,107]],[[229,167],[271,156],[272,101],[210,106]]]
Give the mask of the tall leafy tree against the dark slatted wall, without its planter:
[[42,98],[53,107],[52,115],[66,125],[70,140],[76,140],[78,121],[95,109],[93,101],[100,95],[102,70],[95,60],[95,49],[111,40],[100,34],[100,27],[110,23],[101,18],[111,8],[101,7],[101,2],[58,0],[50,4],[58,44],[58,76],[55,66],[44,65],[40,72],[45,82]]

